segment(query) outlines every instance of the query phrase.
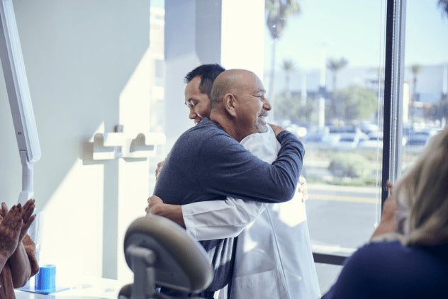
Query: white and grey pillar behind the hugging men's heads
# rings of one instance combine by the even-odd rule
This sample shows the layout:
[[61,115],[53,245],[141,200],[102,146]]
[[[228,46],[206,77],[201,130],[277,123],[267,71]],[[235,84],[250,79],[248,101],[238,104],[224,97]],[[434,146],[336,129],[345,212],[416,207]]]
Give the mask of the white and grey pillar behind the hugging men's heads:
[[263,78],[264,1],[165,0],[165,18],[166,133],[172,145],[194,125],[183,105],[185,84],[178,85],[191,69],[219,63]]

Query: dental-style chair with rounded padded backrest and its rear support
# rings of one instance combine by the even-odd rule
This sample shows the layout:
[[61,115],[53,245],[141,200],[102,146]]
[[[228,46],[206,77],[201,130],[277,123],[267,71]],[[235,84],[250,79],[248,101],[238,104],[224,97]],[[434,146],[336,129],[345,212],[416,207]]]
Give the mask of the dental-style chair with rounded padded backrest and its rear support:
[[199,293],[213,279],[211,261],[201,244],[161,216],[134,220],[125,234],[124,252],[134,282],[121,288],[119,299],[172,298],[157,293],[156,285]]

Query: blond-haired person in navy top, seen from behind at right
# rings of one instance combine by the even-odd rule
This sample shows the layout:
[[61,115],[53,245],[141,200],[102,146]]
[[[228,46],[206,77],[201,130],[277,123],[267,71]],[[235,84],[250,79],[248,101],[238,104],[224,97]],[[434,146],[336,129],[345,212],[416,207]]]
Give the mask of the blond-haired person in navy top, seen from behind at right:
[[371,242],[347,259],[323,298],[447,296],[448,127],[398,180]]

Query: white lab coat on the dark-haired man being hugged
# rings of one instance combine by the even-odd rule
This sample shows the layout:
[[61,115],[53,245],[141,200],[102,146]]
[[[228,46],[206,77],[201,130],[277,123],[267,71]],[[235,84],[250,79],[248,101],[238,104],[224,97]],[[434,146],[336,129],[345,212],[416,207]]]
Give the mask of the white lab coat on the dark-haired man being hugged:
[[[280,148],[270,127],[267,133],[245,137],[241,144],[269,163]],[[191,203],[182,205],[182,213],[186,231],[195,239],[239,235],[232,298],[320,298],[301,193],[286,203],[237,198]],[[221,292],[220,298],[225,295]]]

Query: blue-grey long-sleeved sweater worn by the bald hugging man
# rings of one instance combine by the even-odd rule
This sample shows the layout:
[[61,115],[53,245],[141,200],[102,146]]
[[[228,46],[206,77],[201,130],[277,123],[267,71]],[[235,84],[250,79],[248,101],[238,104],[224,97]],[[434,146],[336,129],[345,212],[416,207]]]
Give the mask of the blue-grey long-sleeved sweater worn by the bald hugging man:
[[[177,205],[224,200],[226,196],[267,203],[289,201],[296,191],[305,150],[291,132],[281,132],[277,140],[281,150],[269,164],[205,118],[174,144],[154,194],[164,203]],[[219,290],[230,281],[234,242],[233,238],[201,241],[215,269],[208,290]]]

